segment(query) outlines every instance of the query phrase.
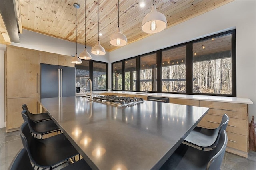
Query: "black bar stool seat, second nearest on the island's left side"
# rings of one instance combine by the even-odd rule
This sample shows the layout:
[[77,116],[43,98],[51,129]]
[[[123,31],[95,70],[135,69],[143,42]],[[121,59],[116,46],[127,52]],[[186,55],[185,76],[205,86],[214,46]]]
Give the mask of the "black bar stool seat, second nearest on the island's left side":
[[24,122],[20,127],[20,136],[31,162],[41,168],[52,169],[52,166],[78,155],[78,151],[63,133],[37,139],[31,135],[28,123]]

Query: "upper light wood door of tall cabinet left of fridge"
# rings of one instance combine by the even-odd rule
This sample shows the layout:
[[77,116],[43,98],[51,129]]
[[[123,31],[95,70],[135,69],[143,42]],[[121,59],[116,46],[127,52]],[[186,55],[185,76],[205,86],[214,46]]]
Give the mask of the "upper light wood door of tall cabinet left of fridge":
[[7,98],[40,96],[39,52],[7,48]]

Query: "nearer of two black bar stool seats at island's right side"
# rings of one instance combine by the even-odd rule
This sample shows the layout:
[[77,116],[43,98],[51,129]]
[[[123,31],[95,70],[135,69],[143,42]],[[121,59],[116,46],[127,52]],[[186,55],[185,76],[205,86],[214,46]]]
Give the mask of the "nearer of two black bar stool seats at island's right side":
[[181,144],[160,170],[220,170],[227,142],[226,131],[222,130],[213,150],[204,151]]

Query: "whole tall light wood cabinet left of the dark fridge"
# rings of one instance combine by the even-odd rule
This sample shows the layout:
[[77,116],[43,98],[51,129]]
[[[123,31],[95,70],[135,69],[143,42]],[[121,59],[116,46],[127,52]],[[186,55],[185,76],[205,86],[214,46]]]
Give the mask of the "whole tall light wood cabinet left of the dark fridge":
[[14,131],[23,123],[22,105],[37,112],[40,98],[40,55],[38,51],[7,47],[6,57],[6,130]]

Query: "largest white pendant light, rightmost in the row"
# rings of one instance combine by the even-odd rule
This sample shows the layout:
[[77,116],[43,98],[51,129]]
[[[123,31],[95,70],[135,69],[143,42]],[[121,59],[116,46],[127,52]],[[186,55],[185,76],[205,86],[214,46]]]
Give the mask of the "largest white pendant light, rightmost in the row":
[[156,6],[153,0],[151,12],[148,13],[142,20],[142,31],[152,34],[157,33],[167,26],[166,17],[164,14],[156,11]]

